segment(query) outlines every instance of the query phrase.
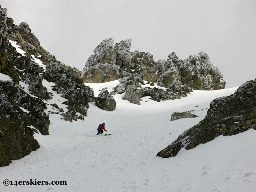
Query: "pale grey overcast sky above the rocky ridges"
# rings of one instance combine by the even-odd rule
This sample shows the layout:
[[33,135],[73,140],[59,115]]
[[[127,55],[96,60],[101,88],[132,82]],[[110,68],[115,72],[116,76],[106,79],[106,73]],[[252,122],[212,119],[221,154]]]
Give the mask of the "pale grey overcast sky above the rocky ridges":
[[1,0],[14,24],[28,23],[41,46],[83,69],[103,39],[132,38],[131,50],[154,60],[204,50],[226,88],[256,77],[255,0]]

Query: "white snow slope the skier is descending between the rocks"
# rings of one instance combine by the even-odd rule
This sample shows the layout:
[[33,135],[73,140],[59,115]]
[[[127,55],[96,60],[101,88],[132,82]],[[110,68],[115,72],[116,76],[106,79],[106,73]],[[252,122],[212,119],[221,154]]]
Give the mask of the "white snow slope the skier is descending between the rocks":
[[[107,87],[110,92],[118,83],[86,85],[93,88],[97,97],[102,88]],[[52,83],[43,81],[43,84],[52,90]],[[92,103],[84,121],[73,123],[49,114],[50,135],[34,135],[40,148],[9,166],[0,167],[0,191],[255,192],[253,129],[234,136],[219,136],[194,149],[181,150],[175,157],[156,157],[183,131],[204,119],[213,99],[233,94],[236,89],[194,90],[188,97],[161,102],[144,97],[141,105],[122,100],[122,95],[116,94],[114,111],[101,110]],[[65,99],[53,93],[45,112],[54,111],[50,106],[53,103],[67,111],[61,104]],[[190,110],[195,110],[191,113],[199,117],[170,121],[173,112]],[[94,132],[102,122],[106,123],[110,136]],[[4,186],[5,179],[67,181],[67,185]]]

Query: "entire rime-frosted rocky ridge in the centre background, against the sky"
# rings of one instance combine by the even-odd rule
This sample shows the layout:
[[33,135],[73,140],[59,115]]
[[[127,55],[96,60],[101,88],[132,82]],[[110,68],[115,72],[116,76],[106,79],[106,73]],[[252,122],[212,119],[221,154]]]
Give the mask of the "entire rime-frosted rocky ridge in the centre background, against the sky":
[[[83,69],[85,83],[104,83],[120,80],[115,88],[118,94],[125,93],[123,99],[140,104],[140,98],[151,96],[160,101],[180,99],[192,89],[216,90],[225,88],[226,82],[220,69],[211,63],[205,52],[179,60],[172,52],[166,60],[154,61],[149,52],[130,52],[132,39],[114,44],[114,37],[103,40],[89,57]],[[167,88],[142,89],[144,81]]]

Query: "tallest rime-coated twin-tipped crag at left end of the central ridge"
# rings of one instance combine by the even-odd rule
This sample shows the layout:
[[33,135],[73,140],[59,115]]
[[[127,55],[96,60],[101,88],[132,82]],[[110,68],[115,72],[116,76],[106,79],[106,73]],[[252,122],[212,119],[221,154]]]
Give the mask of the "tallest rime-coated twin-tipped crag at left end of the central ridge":
[[120,66],[126,66],[131,62],[129,46],[131,39],[122,40],[115,44],[114,38],[103,40],[95,49],[83,68],[83,80],[85,83],[104,83],[116,80],[120,77]]

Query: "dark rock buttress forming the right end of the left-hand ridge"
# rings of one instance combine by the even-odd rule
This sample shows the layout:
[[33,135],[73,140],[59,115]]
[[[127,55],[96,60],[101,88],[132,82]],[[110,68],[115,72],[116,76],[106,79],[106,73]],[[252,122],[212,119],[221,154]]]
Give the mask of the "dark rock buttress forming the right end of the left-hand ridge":
[[92,88],[82,85],[83,80],[80,71],[64,65],[54,57],[50,58],[50,64],[46,69],[44,78],[55,83],[56,85],[53,86],[52,90],[67,99],[64,104],[68,105],[69,110],[71,109],[69,114],[73,114],[72,111],[74,111],[86,116],[89,102],[94,101],[94,95]]

